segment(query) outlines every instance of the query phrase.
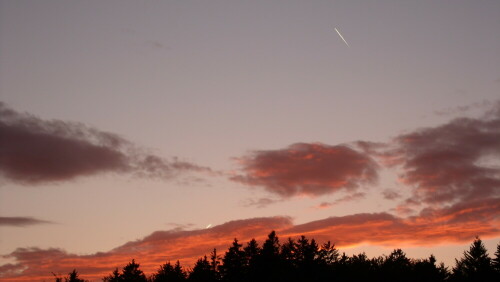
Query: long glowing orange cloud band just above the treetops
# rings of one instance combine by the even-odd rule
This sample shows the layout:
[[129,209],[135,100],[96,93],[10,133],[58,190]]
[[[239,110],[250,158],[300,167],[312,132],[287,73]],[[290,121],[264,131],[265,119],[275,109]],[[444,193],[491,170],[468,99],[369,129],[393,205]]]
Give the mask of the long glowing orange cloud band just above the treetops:
[[179,259],[184,266],[214,247],[222,254],[234,238],[262,240],[270,230],[283,239],[306,235],[318,241],[331,240],[339,247],[361,243],[372,245],[432,246],[469,242],[474,236],[500,236],[500,200],[471,201],[442,209],[424,209],[418,216],[397,217],[388,213],[363,213],[330,217],[293,225],[288,217],[253,218],[231,221],[210,229],[157,231],[128,242],[109,252],[75,255],[60,249],[19,248],[5,257],[15,264],[0,266],[3,281],[50,279],[51,272],[68,273],[73,268],[85,279],[100,279],[132,258],[146,273],[166,261]]

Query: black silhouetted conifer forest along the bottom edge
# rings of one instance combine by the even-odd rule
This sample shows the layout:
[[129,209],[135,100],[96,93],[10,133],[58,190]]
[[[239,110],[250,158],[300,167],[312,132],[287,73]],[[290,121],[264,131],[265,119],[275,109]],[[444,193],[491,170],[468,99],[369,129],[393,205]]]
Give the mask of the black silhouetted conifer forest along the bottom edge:
[[[84,282],[73,270],[67,277],[55,276],[56,282]],[[448,269],[443,263],[436,264],[430,255],[426,259],[411,259],[401,249],[389,255],[368,258],[365,253],[347,256],[340,253],[334,244],[326,242],[319,246],[314,239],[301,236],[297,240],[288,238],[280,243],[272,231],[262,247],[255,239],[245,246],[234,239],[232,245],[219,255],[214,249],[194,264],[184,269],[180,262],[167,262],[150,277],[140,270],[139,263],[132,260],[121,270],[116,268],[102,279],[106,282],[214,282],[214,281],[450,281],[493,282],[500,281],[500,244],[494,258],[478,237],[463,257],[455,259],[455,266]]]

